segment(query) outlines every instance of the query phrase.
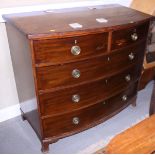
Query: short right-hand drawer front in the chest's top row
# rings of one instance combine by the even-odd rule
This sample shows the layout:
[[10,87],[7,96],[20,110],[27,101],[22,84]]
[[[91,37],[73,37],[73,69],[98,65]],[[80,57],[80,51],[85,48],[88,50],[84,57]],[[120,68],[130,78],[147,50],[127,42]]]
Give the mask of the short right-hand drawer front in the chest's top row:
[[112,50],[146,39],[148,27],[149,22],[133,28],[114,31],[112,33]]

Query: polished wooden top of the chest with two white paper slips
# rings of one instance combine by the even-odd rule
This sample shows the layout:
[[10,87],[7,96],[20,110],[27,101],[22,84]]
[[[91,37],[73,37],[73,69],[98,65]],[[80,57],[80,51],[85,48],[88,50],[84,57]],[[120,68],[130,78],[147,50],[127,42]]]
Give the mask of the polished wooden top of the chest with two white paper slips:
[[[61,36],[75,32],[77,35],[86,31],[87,33],[104,32],[116,27],[119,28],[120,25],[138,24],[149,20],[151,16],[113,4],[9,14],[4,15],[3,18],[29,38],[39,38],[41,36]],[[73,24],[73,27],[70,24]]]

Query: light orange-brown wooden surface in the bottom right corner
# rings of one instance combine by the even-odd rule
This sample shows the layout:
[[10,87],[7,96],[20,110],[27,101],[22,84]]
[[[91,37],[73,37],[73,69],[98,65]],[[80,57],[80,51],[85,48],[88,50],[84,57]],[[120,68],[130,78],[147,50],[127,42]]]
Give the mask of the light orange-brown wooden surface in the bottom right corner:
[[151,154],[155,151],[155,115],[114,137],[107,154]]

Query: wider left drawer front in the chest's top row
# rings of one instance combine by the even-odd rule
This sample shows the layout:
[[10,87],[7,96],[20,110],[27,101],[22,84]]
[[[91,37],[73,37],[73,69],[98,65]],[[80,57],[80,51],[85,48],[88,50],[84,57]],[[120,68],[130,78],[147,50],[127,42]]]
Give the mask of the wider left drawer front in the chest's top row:
[[34,41],[36,64],[62,64],[107,51],[108,33]]

